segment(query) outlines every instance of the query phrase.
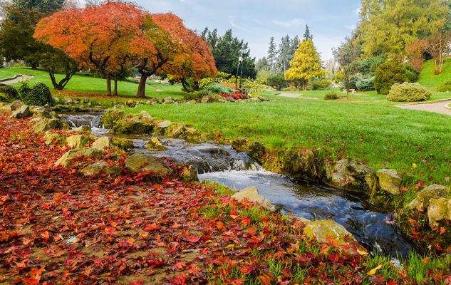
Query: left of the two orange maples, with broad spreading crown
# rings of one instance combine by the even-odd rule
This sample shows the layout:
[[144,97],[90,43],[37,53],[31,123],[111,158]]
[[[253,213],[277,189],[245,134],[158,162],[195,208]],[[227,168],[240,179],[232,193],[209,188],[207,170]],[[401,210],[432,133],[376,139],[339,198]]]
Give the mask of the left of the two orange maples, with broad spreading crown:
[[103,73],[111,95],[112,76],[143,54],[155,53],[155,46],[145,36],[146,23],[146,13],[134,4],[107,2],[48,16],[39,21],[34,36],[84,67]]

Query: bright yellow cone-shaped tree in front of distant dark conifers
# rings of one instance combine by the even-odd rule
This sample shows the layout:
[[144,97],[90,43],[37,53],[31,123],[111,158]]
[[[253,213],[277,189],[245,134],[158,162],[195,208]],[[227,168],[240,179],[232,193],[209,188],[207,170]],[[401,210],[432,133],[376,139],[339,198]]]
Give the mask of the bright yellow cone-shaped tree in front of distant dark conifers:
[[299,43],[290,66],[291,68],[285,73],[285,79],[294,81],[296,86],[301,85],[304,90],[307,89],[307,83],[311,78],[326,75],[326,71],[321,68],[319,54],[310,39]]

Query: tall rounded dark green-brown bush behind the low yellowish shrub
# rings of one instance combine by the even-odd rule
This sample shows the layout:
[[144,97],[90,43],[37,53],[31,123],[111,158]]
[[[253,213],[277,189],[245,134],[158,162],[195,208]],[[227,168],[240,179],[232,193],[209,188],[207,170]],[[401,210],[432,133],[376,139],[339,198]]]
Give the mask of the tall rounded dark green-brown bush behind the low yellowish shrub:
[[381,64],[375,71],[374,88],[378,94],[387,95],[395,83],[409,81],[408,71],[400,61],[393,59]]

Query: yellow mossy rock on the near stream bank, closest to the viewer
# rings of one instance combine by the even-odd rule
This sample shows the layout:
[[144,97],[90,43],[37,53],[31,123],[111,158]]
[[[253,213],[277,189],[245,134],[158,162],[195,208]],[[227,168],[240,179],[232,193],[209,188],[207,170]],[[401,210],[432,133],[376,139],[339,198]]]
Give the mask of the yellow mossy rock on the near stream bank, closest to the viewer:
[[356,239],[341,224],[332,220],[318,220],[313,222],[305,222],[304,234],[307,237],[315,238],[317,242],[329,242],[328,237],[341,244],[348,244],[345,237],[349,236],[353,241]]

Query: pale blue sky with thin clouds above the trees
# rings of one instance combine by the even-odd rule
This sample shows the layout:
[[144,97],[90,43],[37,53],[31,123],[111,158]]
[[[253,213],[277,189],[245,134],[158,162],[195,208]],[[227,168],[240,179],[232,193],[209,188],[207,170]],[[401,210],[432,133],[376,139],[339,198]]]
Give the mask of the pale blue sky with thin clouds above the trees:
[[266,56],[269,40],[304,35],[306,24],[313,43],[326,61],[333,47],[349,36],[358,21],[360,0],[135,0],[151,13],[172,12],[197,31],[232,28],[249,42],[251,56]]

